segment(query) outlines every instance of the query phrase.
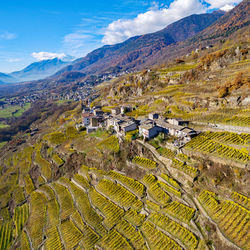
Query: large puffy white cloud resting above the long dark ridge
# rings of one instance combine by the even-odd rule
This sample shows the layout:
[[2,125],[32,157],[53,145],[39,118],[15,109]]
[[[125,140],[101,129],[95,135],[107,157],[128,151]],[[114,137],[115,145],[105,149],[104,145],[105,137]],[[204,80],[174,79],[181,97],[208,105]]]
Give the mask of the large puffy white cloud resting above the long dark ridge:
[[134,19],[117,20],[108,25],[102,42],[104,44],[115,44],[129,37],[155,32],[165,28],[185,16],[194,13],[203,13],[206,8],[199,0],[175,0],[169,8],[163,7],[150,9],[146,13],[139,14]]

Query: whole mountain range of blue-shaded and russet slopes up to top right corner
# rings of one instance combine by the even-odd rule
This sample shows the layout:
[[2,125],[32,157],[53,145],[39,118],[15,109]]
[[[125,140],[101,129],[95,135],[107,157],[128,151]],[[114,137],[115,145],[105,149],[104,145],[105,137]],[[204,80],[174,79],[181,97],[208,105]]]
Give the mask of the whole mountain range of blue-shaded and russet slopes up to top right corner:
[[[91,77],[95,79],[102,75],[142,70],[154,65],[165,64],[173,58],[184,56],[197,48],[216,44],[248,25],[249,4],[248,0],[243,0],[227,13],[214,11],[191,15],[158,32],[132,37],[115,45],[105,45],[67,65],[59,59],[53,59],[56,67],[61,67],[60,70],[56,71],[55,67],[54,75],[29,82],[26,86],[27,89],[57,89],[59,86],[64,87],[68,84],[84,82]],[[43,62],[34,63],[32,67],[39,63],[43,64]],[[30,65],[27,68],[32,67]],[[24,75],[28,74],[25,73],[25,70],[22,72]],[[18,75],[19,73],[13,74]],[[26,79],[28,80],[28,78]],[[1,80],[4,81],[0,76]]]

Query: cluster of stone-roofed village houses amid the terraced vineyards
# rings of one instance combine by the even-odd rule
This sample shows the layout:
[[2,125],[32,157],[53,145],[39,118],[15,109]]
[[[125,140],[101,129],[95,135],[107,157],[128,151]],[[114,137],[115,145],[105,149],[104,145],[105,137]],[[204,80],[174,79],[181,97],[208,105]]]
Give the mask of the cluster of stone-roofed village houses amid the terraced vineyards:
[[85,107],[82,112],[82,124],[77,126],[86,127],[87,133],[98,128],[112,127],[119,136],[138,129],[139,135],[144,139],[152,139],[159,133],[164,133],[180,138],[183,142],[188,142],[197,135],[197,131],[188,127],[188,121],[179,118],[164,119],[157,113],[149,114],[144,119],[135,119],[126,116],[126,112],[130,110],[130,107],[122,106],[112,109],[111,113],[104,113],[100,106],[92,109]]

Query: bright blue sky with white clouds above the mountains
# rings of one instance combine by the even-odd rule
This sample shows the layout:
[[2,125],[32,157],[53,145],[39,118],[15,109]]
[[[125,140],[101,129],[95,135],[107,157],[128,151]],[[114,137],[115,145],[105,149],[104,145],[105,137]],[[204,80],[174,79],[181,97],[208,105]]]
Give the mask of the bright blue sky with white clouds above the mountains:
[[70,60],[241,0],[0,0],[0,72]]

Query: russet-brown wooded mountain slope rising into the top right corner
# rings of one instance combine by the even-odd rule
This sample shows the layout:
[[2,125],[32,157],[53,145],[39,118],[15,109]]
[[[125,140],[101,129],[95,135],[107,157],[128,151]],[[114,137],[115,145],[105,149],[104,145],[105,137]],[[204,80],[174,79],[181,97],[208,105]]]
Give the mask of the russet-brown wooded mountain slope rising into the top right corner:
[[145,62],[144,67],[164,63],[178,56],[183,56],[197,48],[213,45],[227,39],[235,39],[237,33],[238,36],[241,36],[241,33],[249,34],[249,8],[249,0],[243,0],[235,8],[195,36],[178,44],[163,48],[153,55],[150,60]]

